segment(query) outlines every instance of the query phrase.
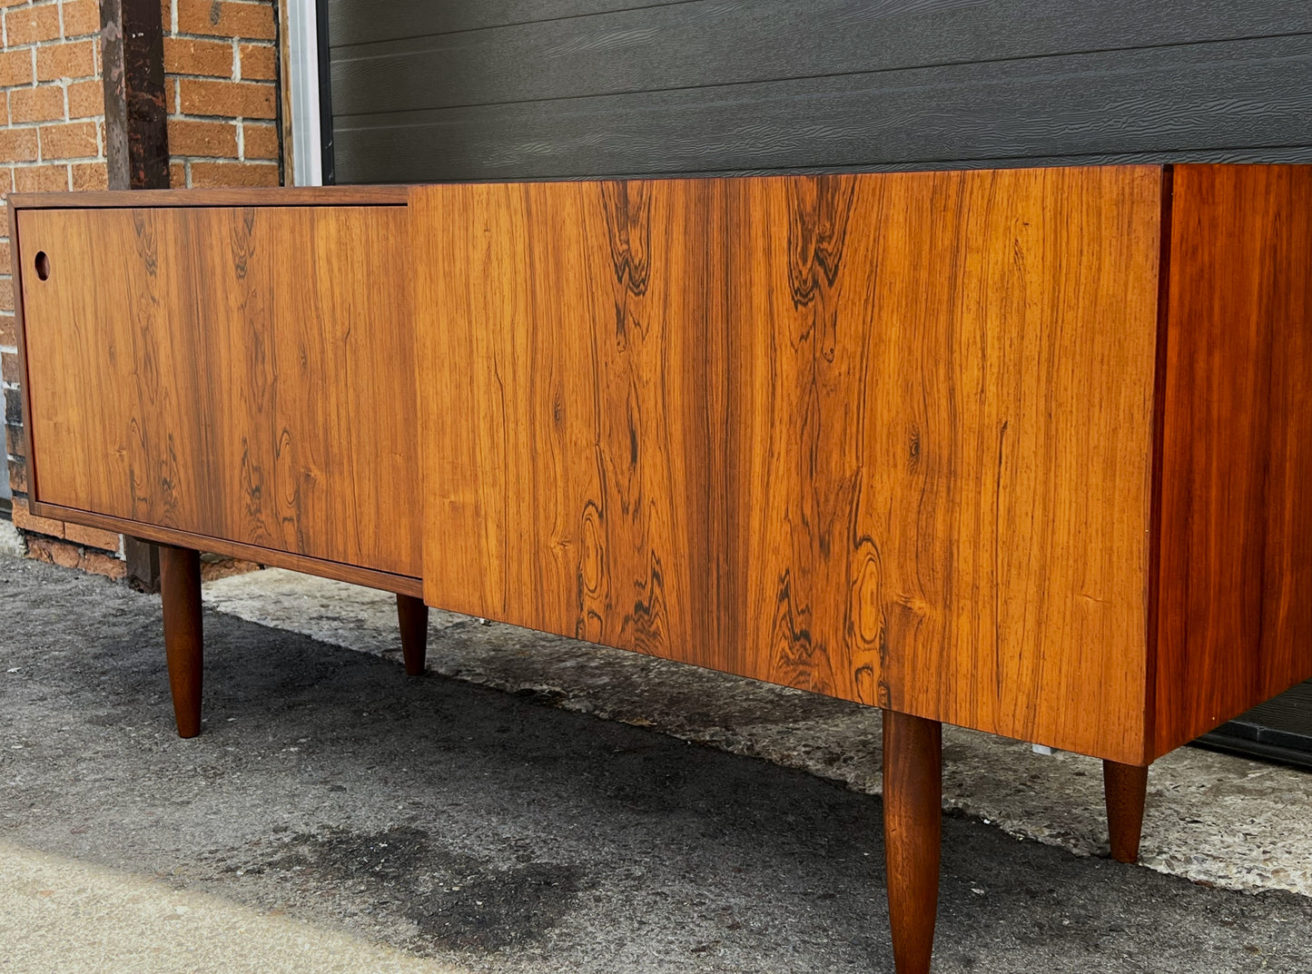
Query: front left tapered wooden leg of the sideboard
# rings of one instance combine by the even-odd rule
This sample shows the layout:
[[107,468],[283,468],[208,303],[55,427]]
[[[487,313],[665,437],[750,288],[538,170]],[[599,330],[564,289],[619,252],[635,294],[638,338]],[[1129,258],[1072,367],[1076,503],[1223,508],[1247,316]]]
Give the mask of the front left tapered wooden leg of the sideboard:
[[164,654],[178,737],[201,733],[201,553],[160,545]]

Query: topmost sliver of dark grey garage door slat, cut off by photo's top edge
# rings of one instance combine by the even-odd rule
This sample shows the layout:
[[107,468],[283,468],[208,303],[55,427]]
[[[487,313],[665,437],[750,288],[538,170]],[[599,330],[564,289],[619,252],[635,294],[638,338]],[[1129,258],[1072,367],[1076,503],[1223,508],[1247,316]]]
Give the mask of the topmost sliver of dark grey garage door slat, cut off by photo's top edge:
[[687,0],[666,0],[664,4],[660,0],[328,0],[328,39],[333,45],[365,43],[686,3]]

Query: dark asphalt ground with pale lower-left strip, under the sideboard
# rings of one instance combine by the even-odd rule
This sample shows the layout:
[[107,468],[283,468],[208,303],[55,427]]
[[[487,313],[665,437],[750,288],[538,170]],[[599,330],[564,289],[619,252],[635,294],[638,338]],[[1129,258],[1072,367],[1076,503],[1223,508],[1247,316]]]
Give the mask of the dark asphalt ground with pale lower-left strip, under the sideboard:
[[[892,970],[878,797],[550,693],[205,624],[207,721],[181,741],[157,598],[0,556],[0,970]],[[483,628],[438,627],[430,655]],[[874,762],[857,745],[844,759]],[[1287,828],[1309,811],[1299,796]],[[1312,899],[956,813],[937,958],[1312,971]]]

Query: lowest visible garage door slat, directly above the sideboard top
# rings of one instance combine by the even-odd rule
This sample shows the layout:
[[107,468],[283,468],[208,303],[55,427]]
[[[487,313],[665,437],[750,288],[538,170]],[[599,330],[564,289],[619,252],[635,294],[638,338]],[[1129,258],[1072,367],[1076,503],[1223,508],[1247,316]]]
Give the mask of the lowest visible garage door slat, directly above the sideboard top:
[[1312,144],[1312,35],[338,118],[338,178],[1015,164]]

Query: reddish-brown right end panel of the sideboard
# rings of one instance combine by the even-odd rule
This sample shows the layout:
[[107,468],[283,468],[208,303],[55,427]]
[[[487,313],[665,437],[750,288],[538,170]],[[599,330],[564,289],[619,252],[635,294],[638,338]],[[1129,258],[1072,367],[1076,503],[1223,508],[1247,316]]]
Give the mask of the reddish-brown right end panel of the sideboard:
[[1312,166],[1174,170],[1156,739],[1312,676]]

